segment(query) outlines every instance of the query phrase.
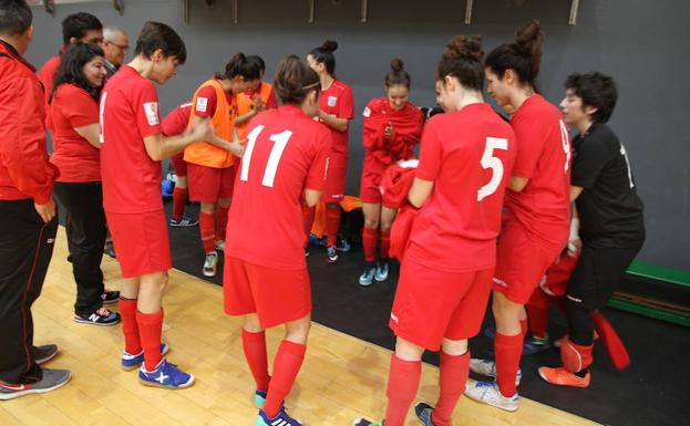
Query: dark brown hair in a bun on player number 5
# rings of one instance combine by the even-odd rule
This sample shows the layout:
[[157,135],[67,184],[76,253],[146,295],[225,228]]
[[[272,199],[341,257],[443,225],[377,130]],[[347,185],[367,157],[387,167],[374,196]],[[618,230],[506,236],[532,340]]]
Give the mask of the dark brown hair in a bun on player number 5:
[[484,89],[482,35],[455,35],[445,46],[436,69],[436,81],[446,76],[457,79],[463,87]]

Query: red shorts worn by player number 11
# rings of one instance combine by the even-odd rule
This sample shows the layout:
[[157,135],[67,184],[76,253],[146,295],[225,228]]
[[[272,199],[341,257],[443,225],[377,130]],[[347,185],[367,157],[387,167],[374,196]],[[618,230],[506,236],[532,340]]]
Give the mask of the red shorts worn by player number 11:
[[272,269],[226,256],[223,295],[225,313],[257,313],[264,329],[311,313],[311,283],[307,268]]

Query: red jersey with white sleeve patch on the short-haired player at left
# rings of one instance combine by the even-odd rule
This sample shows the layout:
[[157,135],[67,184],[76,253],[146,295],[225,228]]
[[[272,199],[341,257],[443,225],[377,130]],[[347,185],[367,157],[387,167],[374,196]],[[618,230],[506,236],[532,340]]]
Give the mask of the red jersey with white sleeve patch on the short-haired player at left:
[[115,214],[163,208],[161,162],[146,153],[144,137],[159,134],[153,82],[128,65],[105,84],[101,96],[103,206]]

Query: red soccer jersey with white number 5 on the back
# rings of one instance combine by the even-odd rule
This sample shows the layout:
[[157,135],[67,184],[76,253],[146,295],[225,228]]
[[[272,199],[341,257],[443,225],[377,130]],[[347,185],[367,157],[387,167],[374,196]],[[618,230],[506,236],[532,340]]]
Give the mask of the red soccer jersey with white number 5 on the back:
[[410,233],[405,257],[449,272],[492,268],[515,135],[488,104],[429,121],[416,177],[434,183]]

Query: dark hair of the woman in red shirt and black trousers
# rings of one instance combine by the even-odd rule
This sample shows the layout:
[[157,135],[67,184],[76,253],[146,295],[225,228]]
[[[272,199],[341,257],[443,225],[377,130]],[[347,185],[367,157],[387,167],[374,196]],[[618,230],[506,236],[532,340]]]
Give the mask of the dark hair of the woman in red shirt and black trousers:
[[89,92],[91,97],[99,102],[103,86],[94,87],[91,83],[89,83],[89,80],[84,75],[84,65],[96,56],[105,58],[103,49],[101,49],[97,44],[71,44],[61,56],[60,66],[55,73],[53,87],[51,89],[48,103],[53,101],[53,95],[58,91],[58,87],[65,83],[72,83],[75,86],[85,90]]

